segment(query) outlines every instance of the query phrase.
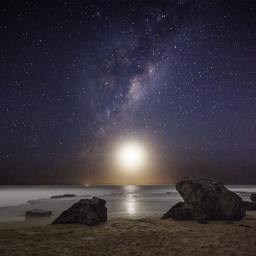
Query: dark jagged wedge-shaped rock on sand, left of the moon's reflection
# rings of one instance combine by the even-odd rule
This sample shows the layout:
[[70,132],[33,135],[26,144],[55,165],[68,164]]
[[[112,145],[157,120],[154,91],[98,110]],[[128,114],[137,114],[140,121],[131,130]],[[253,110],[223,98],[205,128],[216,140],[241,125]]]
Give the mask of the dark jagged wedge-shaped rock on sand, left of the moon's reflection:
[[100,222],[107,222],[106,201],[93,197],[92,199],[81,199],[72,207],[65,210],[52,224],[81,223],[94,226]]

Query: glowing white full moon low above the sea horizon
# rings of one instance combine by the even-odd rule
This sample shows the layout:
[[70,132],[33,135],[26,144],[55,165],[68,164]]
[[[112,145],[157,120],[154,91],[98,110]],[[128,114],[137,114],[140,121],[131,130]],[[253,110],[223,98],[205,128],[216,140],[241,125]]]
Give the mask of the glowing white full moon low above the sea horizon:
[[128,142],[118,150],[117,159],[122,168],[134,170],[143,166],[146,154],[140,144]]

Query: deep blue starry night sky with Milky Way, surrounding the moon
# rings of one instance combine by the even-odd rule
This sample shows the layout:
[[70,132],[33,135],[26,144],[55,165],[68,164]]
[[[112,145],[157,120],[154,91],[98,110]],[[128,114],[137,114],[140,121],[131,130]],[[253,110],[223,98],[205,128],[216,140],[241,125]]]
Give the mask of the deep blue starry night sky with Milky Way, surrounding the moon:
[[[255,2],[1,1],[0,183],[256,182]],[[112,151],[147,145],[144,175]]]

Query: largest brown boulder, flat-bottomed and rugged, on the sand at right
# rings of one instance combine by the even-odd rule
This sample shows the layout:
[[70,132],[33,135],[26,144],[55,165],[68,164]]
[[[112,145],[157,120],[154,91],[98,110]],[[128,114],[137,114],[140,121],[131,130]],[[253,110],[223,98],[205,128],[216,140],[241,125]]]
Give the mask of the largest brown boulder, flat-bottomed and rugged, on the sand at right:
[[176,189],[184,199],[184,210],[173,210],[175,220],[241,220],[245,216],[242,199],[216,180],[185,177]]

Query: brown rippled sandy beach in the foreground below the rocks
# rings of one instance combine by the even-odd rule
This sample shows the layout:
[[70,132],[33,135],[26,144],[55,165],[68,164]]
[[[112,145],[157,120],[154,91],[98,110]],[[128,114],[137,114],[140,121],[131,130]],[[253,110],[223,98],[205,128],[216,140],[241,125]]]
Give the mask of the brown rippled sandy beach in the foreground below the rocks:
[[[256,213],[199,224],[159,217],[112,219],[95,227],[0,223],[0,255],[256,255]],[[241,225],[245,225],[241,226]]]

